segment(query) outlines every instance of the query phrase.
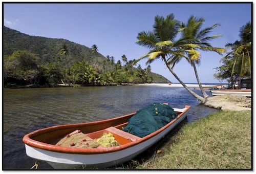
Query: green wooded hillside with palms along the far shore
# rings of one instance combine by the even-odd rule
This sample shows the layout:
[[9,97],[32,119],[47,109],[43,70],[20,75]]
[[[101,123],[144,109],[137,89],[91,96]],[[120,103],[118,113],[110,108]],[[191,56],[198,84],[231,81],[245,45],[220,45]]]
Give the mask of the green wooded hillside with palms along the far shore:
[[169,82],[127,61],[115,58],[65,39],[29,36],[4,27],[4,82],[13,85],[51,85],[58,83],[106,85],[121,83]]

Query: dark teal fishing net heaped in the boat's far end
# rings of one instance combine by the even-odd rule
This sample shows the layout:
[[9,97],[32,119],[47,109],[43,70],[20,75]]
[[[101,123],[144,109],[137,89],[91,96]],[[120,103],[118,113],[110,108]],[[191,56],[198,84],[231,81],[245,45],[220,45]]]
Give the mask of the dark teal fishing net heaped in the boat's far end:
[[128,120],[128,124],[123,128],[123,131],[142,138],[154,133],[177,116],[178,114],[169,105],[155,103],[137,111]]

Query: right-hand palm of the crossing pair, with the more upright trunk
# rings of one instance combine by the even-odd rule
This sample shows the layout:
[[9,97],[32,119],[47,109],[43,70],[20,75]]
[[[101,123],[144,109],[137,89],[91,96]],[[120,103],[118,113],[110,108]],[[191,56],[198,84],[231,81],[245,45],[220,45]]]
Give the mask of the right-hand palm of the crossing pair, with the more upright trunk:
[[[184,40],[184,42],[186,44],[194,44],[194,45],[198,46],[195,48],[191,48],[191,47],[187,48],[186,54],[187,54],[187,57],[189,58],[189,59],[187,59],[187,61],[191,64],[191,66],[193,66],[195,75],[196,75],[196,78],[198,81],[199,88],[200,88],[204,98],[207,98],[208,95],[205,93],[205,91],[202,88],[202,84],[199,80],[198,72],[197,72],[197,68],[196,68],[196,64],[200,63],[200,58],[201,58],[200,52],[198,50],[214,51],[214,52],[217,52],[218,54],[221,54],[225,51],[225,49],[212,47],[208,42],[212,39],[222,36],[222,35],[208,36],[209,32],[211,32],[212,29],[214,29],[220,25],[215,24],[211,27],[201,29],[204,21],[205,20],[203,17],[197,18],[195,16],[191,16],[188,18],[187,24],[181,23],[180,31],[182,33],[181,40]],[[177,58],[178,58],[178,60],[177,60]],[[173,58],[171,61],[176,61],[176,63],[177,63],[180,58],[181,57],[176,57],[176,58]]]

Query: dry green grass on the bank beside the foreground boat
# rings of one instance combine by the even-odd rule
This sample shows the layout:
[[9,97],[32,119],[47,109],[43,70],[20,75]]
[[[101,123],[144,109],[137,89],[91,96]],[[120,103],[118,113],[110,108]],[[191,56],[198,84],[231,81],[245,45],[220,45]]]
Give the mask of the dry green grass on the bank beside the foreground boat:
[[218,112],[184,125],[169,150],[136,169],[252,169],[251,112]]

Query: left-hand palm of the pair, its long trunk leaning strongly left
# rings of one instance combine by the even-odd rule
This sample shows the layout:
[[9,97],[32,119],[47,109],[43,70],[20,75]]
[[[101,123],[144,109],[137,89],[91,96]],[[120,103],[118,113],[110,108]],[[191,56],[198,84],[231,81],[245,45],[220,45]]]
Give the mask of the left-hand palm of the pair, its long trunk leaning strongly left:
[[166,58],[168,56],[184,56],[182,48],[195,48],[198,47],[193,44],[184,44],[184,40],[174,41],[178,31],[179,31],[179,21],[175,19],[174,14],[170,14],[166,16],[166,18],[162,16],[155,17],[155,23],[153,25],[153,32],[152,31],[142,31],[138,33],[138,41],[136,44],[140,46],[144,46],[150,49],[150,52],[146,53],[136,61],[139,61],[143,58],[147,58],[146,63],[151,63],[156,59],[161,58],[168,70],[175,76],[175,78],[184,86],[184,88],[194,97],[196,97],[200,102],[206,102],[206,98],[201,97],[200,95],[196,94],[192,90],[190,90],[185,83],[176,75],[173,71],[173,68],[170,67],[170,62],[167,61]]

